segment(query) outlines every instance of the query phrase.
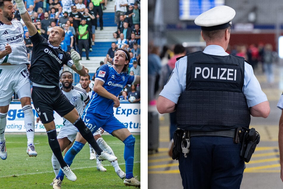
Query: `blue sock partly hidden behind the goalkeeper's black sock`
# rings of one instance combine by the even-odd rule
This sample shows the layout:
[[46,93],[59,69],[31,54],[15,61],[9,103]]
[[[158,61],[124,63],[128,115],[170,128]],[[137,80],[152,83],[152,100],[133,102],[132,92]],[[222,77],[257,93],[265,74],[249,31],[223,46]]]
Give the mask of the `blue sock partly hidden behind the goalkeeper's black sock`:
[[[72,145],[72,147],[67,151],[67,153],[65,154],[64,160],[69,165],[69,167],[73,163],[73,160],[74,160],[76,154],[78,154],[79,151],[81,151],[83,147],[84,147],[83,143],[75,141],[74,144]],[[56,179],[60,178],[60,180],[63,180],[64,175],[65,174],[60,169],[58,175],[56,176]]]

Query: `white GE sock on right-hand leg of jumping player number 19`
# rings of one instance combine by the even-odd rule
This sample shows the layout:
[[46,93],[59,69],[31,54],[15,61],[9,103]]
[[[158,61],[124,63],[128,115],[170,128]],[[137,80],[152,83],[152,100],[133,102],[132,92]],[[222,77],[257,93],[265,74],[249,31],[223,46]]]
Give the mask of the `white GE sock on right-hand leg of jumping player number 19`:
[[33,144],[35,138],[35,117],[32,112],[32,106],[26,105],[22,108],[24,111],[25,117],[25,127],[26,127],[26,137],[27,137],[27,144]]

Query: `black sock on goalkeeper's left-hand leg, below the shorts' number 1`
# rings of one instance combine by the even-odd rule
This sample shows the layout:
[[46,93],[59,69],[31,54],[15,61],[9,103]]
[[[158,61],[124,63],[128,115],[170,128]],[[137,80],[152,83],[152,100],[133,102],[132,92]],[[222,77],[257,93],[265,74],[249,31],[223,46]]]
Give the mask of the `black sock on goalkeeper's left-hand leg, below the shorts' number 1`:
[[48,136],[49,146],[50,146],[53,154],[57,158],[58,162],[60,163],[61,168],[67,166],[67,163],[63,159],[61,148],[60,148],[59,142],[57,140],[56,129],[53,129],[51,131],[46,131],[46,133],[47,133],[47,136]]

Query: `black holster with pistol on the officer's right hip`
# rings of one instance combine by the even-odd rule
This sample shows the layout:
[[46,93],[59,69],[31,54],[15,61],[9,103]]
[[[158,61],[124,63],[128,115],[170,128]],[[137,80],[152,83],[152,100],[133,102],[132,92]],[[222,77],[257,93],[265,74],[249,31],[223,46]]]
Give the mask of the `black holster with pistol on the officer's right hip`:
[[259,140],[260,135],[254,128],[243,132],[243,143],[240,151],[240,157],[242,157],[245,162],[248,163],[250,161],[251,155],[254,153]]

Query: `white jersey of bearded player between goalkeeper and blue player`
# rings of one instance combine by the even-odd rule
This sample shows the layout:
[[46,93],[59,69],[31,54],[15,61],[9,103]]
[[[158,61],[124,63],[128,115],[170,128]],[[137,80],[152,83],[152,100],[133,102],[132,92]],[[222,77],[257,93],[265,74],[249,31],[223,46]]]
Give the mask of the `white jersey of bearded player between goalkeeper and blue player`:
[[[76,86],[72,86],[70,92],[63,91],[63,94],[70,100],[70,102],[75,106],[76,110],[78,111],[79,115],[81,116],[84,112],[85,102],[89,100],[89,96],[85,89],[78,88]],[[73,125],[68,120],[63,117],[63,125]]]

